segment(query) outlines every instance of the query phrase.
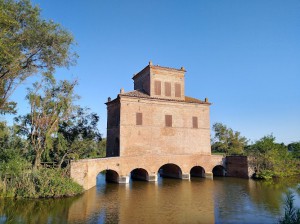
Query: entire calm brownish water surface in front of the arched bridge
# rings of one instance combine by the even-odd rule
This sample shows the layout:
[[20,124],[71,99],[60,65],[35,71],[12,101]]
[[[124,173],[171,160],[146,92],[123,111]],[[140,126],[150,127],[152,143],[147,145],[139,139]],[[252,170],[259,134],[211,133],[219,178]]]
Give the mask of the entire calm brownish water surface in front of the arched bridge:
[[105,183],[65,199],[0,201],[0,223],[276,223],[284,194],[300,207],[299,178],[276,182],[215,177]]

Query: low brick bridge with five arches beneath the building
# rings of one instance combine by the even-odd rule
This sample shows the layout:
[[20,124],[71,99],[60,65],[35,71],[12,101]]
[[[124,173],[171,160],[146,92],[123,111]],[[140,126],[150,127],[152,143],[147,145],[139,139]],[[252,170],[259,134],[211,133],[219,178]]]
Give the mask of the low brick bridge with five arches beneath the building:
[[189,180],[191,176],[212,178],[224,175],[225,158],[218,155],[152,155],[107,157],[71,161],[70,175],[88,190],[96,186],[97,175],[106,171],[106,180],[129,183],[129,179],[157,181],[163,177]]

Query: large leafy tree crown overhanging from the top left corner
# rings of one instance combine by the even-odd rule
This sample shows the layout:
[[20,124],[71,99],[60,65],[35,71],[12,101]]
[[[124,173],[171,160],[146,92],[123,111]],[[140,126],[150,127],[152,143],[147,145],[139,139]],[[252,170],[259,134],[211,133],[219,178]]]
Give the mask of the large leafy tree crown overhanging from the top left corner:
[[0,0],[0,113],[15,112],[9,101],[27,77],[53,73],[75,63],[72,35],[40,16],[29,0]]

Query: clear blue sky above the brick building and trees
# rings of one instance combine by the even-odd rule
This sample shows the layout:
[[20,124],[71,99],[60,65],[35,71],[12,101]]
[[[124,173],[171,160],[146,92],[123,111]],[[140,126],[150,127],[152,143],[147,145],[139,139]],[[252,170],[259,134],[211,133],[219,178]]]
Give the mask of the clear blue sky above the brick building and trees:
[[[77,65],[56,77],[78,79],[78,101],[100,116],[133,74],[154,65],[187,70],[185,94],[211,105],[221,122],[251,142],[273,134],[300,141],[299,0],[33,0],[42,17],[70,31]],[[27,80],[13,95],[20,114]]]

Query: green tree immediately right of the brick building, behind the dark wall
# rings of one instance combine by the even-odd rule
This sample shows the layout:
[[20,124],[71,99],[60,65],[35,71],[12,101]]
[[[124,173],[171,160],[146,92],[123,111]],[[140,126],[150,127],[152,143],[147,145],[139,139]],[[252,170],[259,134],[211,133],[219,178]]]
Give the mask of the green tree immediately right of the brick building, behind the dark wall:
[[226,155],[240,155],[244,153],[247,139],[240,132],[233,131],[222,123],[213,125],[214,138],[212,139],[212,151],[222,152]]

